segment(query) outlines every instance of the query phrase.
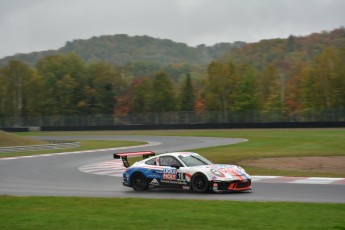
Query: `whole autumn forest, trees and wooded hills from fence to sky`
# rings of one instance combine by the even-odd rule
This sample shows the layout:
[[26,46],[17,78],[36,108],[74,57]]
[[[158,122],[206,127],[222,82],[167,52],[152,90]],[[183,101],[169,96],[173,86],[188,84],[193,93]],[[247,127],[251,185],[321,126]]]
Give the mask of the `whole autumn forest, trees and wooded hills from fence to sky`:
[[196,48],[115,37],[2,60],[0,127],[90,116],[109,124],[345,120],[344,28]]

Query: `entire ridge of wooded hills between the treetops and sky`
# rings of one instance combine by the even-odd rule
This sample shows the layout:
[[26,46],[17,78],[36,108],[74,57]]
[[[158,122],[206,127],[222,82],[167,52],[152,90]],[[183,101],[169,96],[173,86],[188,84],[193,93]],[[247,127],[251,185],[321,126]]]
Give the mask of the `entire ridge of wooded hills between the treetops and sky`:
[[[48,55],[76,53],[86,62],[105,61],[128,69],[145,71],[174,64],[207,66],[215,59],[231,59],[238,63],[250,63],[257,69],[276,62],[308,62],[327,47],[345,46],[345,28],[312,33],[307,36],[290,35],[288,38],[265,39],[255,43],[217,43],[213,46],[191,47],[169,39],[126,34],[104,35],[90,39],[67,42],[58,50],[17,54],[0,59],[0,66],[17,59],[29,65]],[[133,72],[133,74],[141,75]]]

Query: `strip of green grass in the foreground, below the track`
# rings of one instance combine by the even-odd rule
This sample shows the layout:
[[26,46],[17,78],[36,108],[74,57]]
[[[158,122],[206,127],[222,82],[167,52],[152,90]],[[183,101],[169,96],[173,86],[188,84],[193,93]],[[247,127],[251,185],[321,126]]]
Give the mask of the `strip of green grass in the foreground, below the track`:
[[1,229],[345,229],[345,204],[0,196]]

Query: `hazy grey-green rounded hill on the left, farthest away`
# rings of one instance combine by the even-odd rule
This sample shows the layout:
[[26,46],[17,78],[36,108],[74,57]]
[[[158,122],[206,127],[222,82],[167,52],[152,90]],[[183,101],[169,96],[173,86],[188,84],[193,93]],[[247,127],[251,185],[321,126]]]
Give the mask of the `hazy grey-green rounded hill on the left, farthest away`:
[[9,60],[17,59],[34,65],[47,55],[76,53],[86,62],[106,61],[117,65],[131,63],[154,63],[158,65],[189,64],[204,65],[213,59],[220,58],[224,53],[240,48],[244,42],[218,43],[213,46],[199,45],[190,47],[168,39],[149,36],[128,36],[125,34],[92,37],[67,42],[58,50],[16,54],[0,59],[0,66]]

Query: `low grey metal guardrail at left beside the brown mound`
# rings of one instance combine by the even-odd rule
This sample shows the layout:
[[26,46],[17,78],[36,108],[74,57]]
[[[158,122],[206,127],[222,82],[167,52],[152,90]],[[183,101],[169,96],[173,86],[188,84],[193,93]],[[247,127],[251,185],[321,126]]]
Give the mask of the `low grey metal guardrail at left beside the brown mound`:
[[25,151],[47,150],[47,149],[67,149],[67,148],[78,148],[78,147],[80,147],[80,142],[63,142],[63,143],[45,144],[45,145],[1,147],[0,153],[25,152]]

